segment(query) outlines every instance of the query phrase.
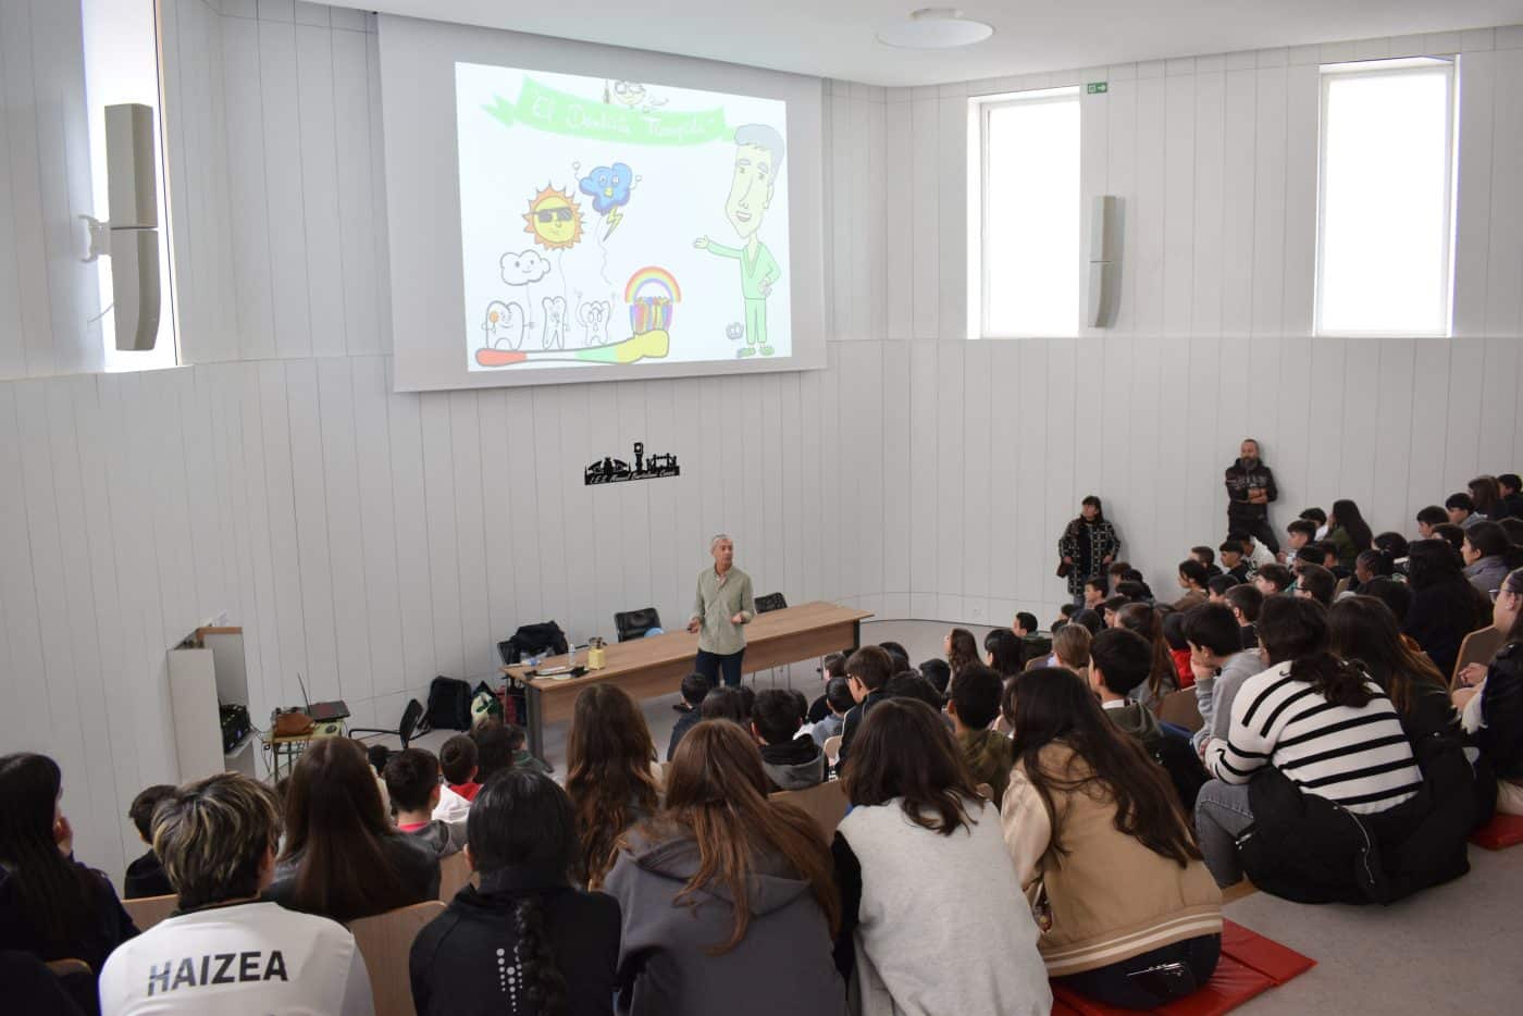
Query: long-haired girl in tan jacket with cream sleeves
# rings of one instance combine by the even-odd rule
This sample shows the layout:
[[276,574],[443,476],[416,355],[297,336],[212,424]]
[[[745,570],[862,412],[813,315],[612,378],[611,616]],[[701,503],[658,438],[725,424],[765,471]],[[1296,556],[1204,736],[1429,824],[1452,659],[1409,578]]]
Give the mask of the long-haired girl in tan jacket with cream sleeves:
[[[1162,769],[1062,670],[1028,670],[1002,705],[1016,768],[1001,824],[1049,926],[1037,943],[1048,975],[1121,1008],[1203,986],[1221,947],[1221,893]],[[1165,964],[1177,976],[1133,976]]]

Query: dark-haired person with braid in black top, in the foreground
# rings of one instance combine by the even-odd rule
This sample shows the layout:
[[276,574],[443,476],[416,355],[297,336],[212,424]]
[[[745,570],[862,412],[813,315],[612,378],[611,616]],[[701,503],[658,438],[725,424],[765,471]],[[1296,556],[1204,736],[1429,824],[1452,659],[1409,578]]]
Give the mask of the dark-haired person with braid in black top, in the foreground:
[[419,1016],[612,1016],[618,903],[571,883],[571,800],[550,777],[512,769],[471,809],[466,858],[480,887],[460,890],[408,963]]

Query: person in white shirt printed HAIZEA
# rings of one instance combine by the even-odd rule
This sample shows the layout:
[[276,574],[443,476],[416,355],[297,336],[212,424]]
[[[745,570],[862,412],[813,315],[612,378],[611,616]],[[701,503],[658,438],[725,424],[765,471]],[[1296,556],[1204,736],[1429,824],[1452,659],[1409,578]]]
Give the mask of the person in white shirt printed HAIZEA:
[[178,909],[111,954],[101,970],[101,1011],[373,1013],[355,937],[326,917],[260,899],[279,839],[274,794],[242,774],[221,772],[164,798],[154,850]]

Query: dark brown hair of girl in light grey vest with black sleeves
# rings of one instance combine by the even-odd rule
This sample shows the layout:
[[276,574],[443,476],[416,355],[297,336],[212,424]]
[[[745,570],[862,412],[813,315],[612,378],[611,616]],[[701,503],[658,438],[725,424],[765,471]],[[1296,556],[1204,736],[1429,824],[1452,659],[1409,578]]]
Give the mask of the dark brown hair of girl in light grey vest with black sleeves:
[[905,818],[943,836],[976,821],[967,806],[979,797],[963,752],[941,717],[915,699],[888,699],[867,714],[842,780],[851,804],[902,798]]

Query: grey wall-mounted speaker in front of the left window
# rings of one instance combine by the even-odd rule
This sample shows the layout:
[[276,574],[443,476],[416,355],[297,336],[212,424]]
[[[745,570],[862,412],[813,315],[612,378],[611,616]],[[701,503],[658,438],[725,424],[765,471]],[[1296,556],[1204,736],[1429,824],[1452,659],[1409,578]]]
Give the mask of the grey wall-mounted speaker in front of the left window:
[[128,102],[105,108],[110,221],[81,215],[90,228],[91,262],[111,257],[116,347],[143,352],[158,340],[158,181],[154,171],[154,110]]

